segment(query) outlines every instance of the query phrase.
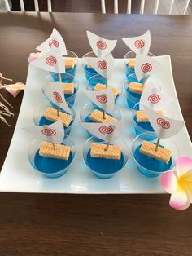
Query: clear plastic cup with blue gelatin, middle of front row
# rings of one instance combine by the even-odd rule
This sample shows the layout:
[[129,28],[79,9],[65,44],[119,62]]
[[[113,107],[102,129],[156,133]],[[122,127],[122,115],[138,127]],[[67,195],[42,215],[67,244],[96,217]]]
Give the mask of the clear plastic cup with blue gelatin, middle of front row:
[[[116,139],[113,145],[120,145],[121,157],[120,160],[117,159],[107,159],[107,158],[98,158],[90,156],[91,144],[95,143],[95,138],[89,138],[83,147],[83,160],[85,165],[89,167],[89,170],[95,174],[98,178],[108,179],[117,174],[120,170],[124,168],[128,161],[128,147],[124,143],[123,139]],[[105,143],[106,142],[101,142]]]

